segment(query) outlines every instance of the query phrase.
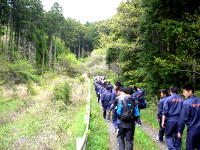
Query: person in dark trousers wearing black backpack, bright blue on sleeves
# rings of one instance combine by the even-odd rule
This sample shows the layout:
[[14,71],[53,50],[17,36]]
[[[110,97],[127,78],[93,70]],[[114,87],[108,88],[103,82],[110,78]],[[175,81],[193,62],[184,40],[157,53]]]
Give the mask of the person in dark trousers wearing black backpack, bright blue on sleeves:
[[125,87],[123,90],[125,97],[117,107],[117,114],[120,119],[117,135],[119,150],[125,150],[125,147],[127,147],[127,150],[133,150],[135,120],[140,116],[140,113],[138,102],[131,97],[132,89],[130,87]]

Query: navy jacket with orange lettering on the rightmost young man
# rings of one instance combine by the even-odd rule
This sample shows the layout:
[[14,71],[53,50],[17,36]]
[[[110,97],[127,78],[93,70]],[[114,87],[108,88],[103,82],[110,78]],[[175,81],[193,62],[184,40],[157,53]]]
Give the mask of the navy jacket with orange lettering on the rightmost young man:
[[200,129],[200,98],[195,95],[184,101],[178,131],[183,133],[185,124],[188,129]]

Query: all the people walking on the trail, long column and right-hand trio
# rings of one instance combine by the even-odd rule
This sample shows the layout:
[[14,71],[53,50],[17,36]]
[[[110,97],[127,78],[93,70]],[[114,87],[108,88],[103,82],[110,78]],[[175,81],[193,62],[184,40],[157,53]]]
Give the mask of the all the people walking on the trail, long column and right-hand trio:
[[[123,86],[117,81],[113,86],[104,76],[94,78],[94,87],[103,110],[103,118],[115,128],[119,150],[133,150],[135,124],[141,126],[140,110],[146,108],[144,90]],[[181,138],[187,125],[186,149],[200,150],[200,98],[190,85],[183,87],[185,100],[175,86],[160,91],[157,120],[160,125],[157,140],[165,141],[169,150],[181,150]],[[142,140],[142,139],[141,139]]]

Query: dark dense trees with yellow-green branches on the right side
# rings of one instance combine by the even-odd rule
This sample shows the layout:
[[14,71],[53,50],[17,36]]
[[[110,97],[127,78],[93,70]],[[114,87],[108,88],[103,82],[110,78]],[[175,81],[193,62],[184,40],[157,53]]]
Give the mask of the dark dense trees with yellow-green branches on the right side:
[[200,81],[200,1],[129,0],[100,22],[107,63],[117,64],[120,79],[149,94],[170,85]]

